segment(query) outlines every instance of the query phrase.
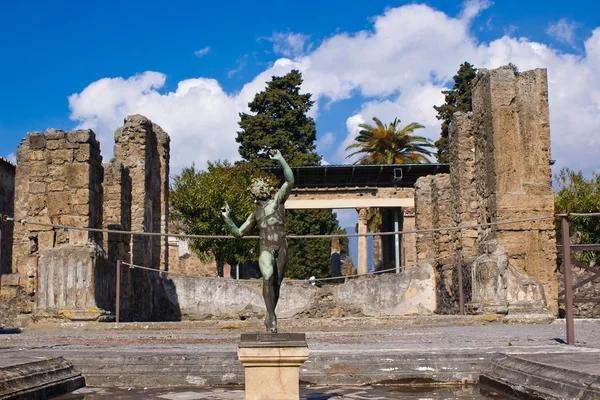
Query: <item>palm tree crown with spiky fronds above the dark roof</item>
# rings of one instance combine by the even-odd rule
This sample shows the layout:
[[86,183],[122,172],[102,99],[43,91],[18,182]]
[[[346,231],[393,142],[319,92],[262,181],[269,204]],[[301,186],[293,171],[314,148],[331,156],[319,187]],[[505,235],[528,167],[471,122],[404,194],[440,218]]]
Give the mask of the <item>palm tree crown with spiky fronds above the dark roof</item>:
[[358,150],[346,158],[361,154],[355,164],[362,165],[429,163],[426,156],[430,156],[431,152],[427,148],[433,147],[432,141],[413,135],[416,129],[424,128],[423,125],[411,122],[402,127],[398,118],[389,125],[378,118],[373,118],[373,121],[375,126],[358,125],[362,129],[354,139],[356,142],[346,147],[346,150]]

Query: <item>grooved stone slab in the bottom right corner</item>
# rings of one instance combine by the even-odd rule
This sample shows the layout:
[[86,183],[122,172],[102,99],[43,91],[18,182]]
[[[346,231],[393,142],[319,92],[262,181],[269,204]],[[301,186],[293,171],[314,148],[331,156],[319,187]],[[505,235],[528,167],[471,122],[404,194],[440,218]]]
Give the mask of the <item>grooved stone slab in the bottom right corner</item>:
[[517,398],[600,398],[600,353],[504,355],[480,382]]

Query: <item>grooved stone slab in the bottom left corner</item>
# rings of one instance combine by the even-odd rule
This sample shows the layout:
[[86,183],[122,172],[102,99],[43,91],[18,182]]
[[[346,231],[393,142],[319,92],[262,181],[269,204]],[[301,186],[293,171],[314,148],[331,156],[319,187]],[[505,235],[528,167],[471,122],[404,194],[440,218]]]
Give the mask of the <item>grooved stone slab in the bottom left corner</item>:
[[62,357],[0,357],[0,400],[47,399],[84,386],[83,376]]

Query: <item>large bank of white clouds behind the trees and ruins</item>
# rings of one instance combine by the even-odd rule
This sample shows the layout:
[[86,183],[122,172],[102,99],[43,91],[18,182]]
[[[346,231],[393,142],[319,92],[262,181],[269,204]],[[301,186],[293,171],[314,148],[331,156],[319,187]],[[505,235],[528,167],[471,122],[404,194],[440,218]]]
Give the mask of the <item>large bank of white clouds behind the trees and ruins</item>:
[[458,17],[418,4],[388,9],[373,20],[373,29],[337,33],[314,50],[304,47],[304,55],[291,52],[294,58],[277,60],[235,93],[205,78],[182,81],[176,91],[161,93],[165,75],[157,72],[101,79],[71,96],[71,118],[97,131],[105,158],[123,117],[141,113],[171,135],[174,171],[192,161],[203,166],[206,160],[234,160],[238,113],[247,111],[247,103],[271,76],[296,68],[303,72],[303,91],[317,101],[311,111],[317,128],[327,108],[316,106],[349,98],[361,101],[358,111],[348,111],[346,132],[334,132],[334,144],[329,144],[331,135],[319,134],[319,149],[329,162],[351,162],[344,149],[358,133],[359,123],[374,116],[388,123],[398,117],[403,124],[425,125],[419,134],[436,139],[440,128],[433,105],[443,102],[440,92],[458,66],[469,61],[495,68],[513,62],[521,71],[548,68],[555,168],[597,169],[593,152],[600,126],[600,28],[585,42],[582,55],[506,35],[480,43],[470,23],[489,5],[466,2]]

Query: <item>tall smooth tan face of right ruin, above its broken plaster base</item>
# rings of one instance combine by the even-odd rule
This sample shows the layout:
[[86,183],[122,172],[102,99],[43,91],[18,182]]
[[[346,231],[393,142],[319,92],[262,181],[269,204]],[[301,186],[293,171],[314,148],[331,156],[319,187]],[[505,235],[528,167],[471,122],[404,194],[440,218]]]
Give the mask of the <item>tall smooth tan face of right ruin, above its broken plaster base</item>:
[[[479,220],[552,215],[550,127],[545,69],[481,70],[473,88],[475,181]],[[497,239],[510,263],[544,286],[557,312],[556,241],[551,219],[481,230]]]

